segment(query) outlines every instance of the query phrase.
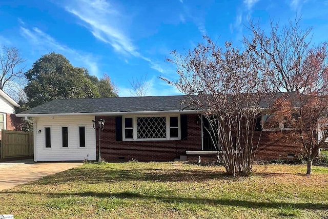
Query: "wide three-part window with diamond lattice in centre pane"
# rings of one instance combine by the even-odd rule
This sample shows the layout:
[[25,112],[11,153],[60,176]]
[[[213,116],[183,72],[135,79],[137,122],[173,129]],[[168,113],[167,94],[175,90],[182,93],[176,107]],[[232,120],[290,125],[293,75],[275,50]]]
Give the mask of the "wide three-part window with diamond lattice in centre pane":
[[179,140],[180,116],[124,117],[123,140]]

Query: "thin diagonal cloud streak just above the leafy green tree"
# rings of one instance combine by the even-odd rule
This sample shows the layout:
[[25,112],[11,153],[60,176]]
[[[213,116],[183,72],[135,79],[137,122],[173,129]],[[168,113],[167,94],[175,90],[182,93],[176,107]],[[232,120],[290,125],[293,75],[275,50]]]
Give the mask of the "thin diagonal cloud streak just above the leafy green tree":
[[69,56],[77,63],[86,65],[90,74],[99,76],[99,69],[97,63],[94,61],[94,57],[91,54],[83,54],[83,52],[69,48],[66,45],[60,44],[55,38],[43,32],[42,30],[34,27],[28,29],[20,27],[20,34],[28,39],[28,41],[34,46],[34,49],[41,50],[48,53],[51,51],[63,53],[65,56]]

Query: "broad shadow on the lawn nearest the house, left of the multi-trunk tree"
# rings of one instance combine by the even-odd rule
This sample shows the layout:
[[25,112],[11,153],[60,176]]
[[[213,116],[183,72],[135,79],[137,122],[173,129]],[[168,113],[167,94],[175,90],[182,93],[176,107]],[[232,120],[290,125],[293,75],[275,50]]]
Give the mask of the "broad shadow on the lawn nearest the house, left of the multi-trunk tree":
[[99,167],[95,165],[88,168],[70,169],[52,176],[46,176],[31,184],[52,185],[69,182],[98,184],[119,181],[197,182],[217,178],[229,177],[224,175],[224,172],[217,171],[148,168],[122,170],[115,168],[101,168],[101,166]]

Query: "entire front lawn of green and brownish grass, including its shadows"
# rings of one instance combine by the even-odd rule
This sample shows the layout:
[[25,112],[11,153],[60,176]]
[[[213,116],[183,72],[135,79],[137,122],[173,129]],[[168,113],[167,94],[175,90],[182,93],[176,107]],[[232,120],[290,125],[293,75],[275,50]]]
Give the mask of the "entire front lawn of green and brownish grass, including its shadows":
[[15,218],[325,218],[328,168],[256,165],[250,177],[183,163],[85,164],[0,191]]

